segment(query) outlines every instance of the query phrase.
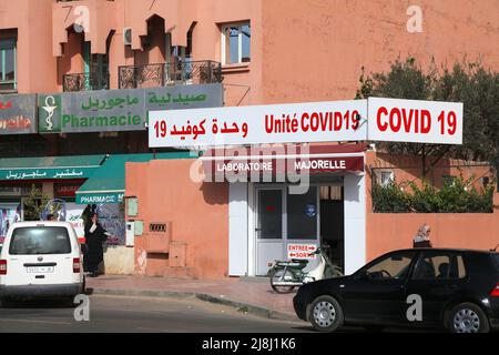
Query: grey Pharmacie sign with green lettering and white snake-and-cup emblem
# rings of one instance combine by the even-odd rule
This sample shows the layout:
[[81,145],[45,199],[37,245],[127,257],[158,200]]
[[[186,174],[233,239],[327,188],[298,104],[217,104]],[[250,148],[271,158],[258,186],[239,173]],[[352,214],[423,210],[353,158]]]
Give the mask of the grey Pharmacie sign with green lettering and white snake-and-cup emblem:
[[151,110],[221,106],[222,84],[40,94],[39,132],[145,130]]

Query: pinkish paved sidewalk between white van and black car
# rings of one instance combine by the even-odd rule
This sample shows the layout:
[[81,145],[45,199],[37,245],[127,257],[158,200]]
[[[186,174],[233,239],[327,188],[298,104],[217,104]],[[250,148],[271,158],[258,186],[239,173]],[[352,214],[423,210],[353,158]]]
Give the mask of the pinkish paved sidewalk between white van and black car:
[[298,321],[289,294],[277,294],[268,282],[230,278],[226,281],[181,280],[129,275],[86,277],[93,294],[130,296],[197,297],[269,318]]

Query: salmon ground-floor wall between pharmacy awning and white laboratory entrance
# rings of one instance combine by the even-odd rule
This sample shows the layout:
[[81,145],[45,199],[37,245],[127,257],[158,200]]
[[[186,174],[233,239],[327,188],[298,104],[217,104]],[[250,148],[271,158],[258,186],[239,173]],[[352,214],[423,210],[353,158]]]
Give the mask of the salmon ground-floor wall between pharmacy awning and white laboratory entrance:
[[[139,215],[133,219],[144,221],[144,235],[135,237],[136,274],[212,280],[227,276],[228,185],[193,182],[193,162],[182,159],[126,164],[125,196],[138,197]],[[149,231],[151,222],[169,223],[170,231],[153,233]],[[184,247],[185,266],[172,266],[183,264]]]

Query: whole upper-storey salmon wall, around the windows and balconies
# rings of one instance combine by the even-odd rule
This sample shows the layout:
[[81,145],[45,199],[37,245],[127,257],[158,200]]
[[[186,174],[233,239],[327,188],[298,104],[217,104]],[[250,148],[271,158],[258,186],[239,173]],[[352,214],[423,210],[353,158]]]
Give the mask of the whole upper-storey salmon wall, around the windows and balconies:
[[[416,57],[424,68],[435,58],[440,68],[466,55],[499,69],[499,47],[490,44],[499,42],[497,0],[420,0],[416,4],[422,10],[421,33],[407,31],[410,4],[399,0],[20,0],[0,3],[0,29],[18,28],[20,92],[60,89],[55,58],[68,43],[68,28],[78,20],[79,6],[90,11],[84,36],[92,53],[105,53],[112,34],[112,89],[118,88],[119,65],[134,64],[135,55],[138,62],[146,57],[140,39],[154,14],[164,20],[173,45],[185,45],[186,32],[195,23],[195,60],[221,61],[221,27],[251,21],[251,63],[244,70],[224,69],[227,105],[350,99],[361,67],[367,73],[386,71],[398,57]],[[122,40],[126,27],[132,28],[131,47]],[[153,50],[150,62],[160,60],[160,54]],[[247,87],[249,92],[241,101]]]

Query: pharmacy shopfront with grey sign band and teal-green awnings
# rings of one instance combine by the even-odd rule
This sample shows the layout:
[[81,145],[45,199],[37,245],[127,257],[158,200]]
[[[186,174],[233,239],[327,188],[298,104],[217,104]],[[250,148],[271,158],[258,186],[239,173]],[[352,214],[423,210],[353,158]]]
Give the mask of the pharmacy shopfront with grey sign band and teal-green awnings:
[[[52,134],[71,140],[85,133],[120,132],[135,132],[146,139],[151,110],[222,104],[222,84],[0,95],[0,139],[2,134]],[[100,154],[73,154],[67,150],[59,156],[0,158],[0,239],[10,224],[39,220],[43,211],[70,221],[83,237],[81,213],[86,205],[95,204],[104,229],[112,235],[108,245],[124,246],[126,162],[192,156],[189,152],[134,149],[110,154],[105,146]]]

